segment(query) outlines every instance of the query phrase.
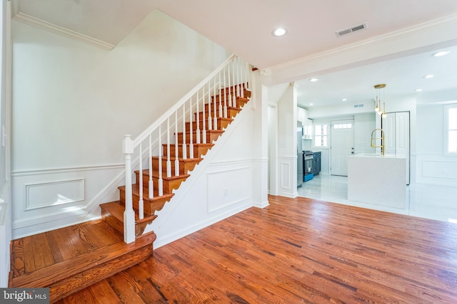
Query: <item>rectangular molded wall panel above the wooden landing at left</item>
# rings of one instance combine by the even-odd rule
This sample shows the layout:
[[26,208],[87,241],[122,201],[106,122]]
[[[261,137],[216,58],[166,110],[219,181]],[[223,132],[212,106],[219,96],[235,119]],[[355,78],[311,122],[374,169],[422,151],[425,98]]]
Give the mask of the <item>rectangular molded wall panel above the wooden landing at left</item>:
[[24,210],[84,201],[84,178],[24,184]]

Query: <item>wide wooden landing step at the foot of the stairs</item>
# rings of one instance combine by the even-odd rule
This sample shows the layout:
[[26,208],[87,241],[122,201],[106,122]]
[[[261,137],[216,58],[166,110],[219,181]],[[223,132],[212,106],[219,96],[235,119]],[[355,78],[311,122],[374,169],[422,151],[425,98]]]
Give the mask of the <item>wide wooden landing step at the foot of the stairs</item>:
[[144,261],[155,239],[151,232],[126,244],[102,220],[16,239],[11,241],[9,287],[49,287],[54,303]]

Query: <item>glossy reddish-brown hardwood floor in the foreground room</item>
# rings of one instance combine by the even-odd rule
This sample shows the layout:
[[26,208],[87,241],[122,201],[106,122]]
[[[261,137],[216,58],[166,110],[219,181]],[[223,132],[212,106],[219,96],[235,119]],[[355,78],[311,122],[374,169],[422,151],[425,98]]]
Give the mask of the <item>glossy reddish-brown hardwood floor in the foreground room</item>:
[[58,303],[457,303],[457,224],[268,200]]

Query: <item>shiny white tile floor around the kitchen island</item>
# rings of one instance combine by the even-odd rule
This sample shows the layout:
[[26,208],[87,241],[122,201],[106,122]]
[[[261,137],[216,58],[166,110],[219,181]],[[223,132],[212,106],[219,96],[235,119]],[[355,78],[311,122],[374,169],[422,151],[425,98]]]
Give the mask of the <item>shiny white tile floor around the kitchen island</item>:
[[348,178],[319,174],[298,188],[298,195],[338,204],[389,211],[398,214],[450,221],[457,224],[457,185],[446,187],[411,184],[406,189],[406,209],[366,204],[348,200]]

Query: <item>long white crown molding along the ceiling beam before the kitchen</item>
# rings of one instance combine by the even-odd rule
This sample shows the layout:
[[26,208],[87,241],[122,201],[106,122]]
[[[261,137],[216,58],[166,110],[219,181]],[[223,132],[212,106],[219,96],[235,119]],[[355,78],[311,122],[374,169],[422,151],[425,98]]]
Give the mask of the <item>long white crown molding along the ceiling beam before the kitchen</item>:
[[443,17],[441,19],[435,19],[433,21],[421,23],[416,26],[410,26],[408,28],[403,28],[399,31],[393,31],[391,33],[386,33],[381,36],[369,38],[364,41],[351,43],[346,46],[333,48],[328,51],[323,51],[321,53],[315,53],[313,55],[298,58],[296,60],[288,61],[286,63],[273,65],[269,68],[264,68],[263,70],[261,70],[261,75],[271,75],[272,73],[275,73],[278,70],[285,70],[287,68],[291,68],[296,65],[306,64],[309,61],[321,60],[323,58],[328,58],[329,56],[334,56],[334,55],[342,53],[342,52],[355,51],[355,50],[363,49],[366,47],[373,47],[373,46],[377,46],[381,43],[389,43],[392,41],[397,41],[398,39],[405,38],[405,37],[408,37],[411,35],[427,33],[429,31],[433,31],[437,28],[441,28],[443,26],[448,26],[451,23],[453,23],[453,24],[457,23],[457,14],[453,14],[450,16]]

